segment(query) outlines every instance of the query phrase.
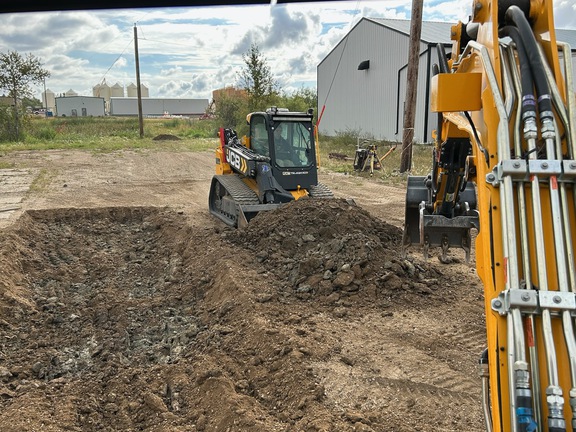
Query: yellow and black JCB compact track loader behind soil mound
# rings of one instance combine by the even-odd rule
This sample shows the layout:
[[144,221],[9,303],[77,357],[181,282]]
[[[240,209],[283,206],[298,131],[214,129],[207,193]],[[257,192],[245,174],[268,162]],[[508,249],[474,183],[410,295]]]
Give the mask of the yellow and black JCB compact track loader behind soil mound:
[[242,141],[232,129],[220,129],[210,212],[239,227],[261,211],[303,197],[331,198],[318,183],[318,157],[312,110],[270,108],[247,116],[250,135]]

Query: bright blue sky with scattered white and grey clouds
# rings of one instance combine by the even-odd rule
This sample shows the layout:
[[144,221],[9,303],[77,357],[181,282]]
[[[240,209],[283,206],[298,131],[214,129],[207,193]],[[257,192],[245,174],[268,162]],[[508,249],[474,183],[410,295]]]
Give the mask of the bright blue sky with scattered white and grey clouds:
[[[467,22],[472,0],[424,0],[426,21]],[[211,99],[237,85],[256,44],[287,93],[316,87],[316,67],[362,18],[410,19],[409,0],[0,13],[0,52],[32,54],[56,96],[97,84],[141,83],[150,97]],[[576,29],[576,2],[556,0],[557,28]],[[43,85],[34,87],[41,99]]]

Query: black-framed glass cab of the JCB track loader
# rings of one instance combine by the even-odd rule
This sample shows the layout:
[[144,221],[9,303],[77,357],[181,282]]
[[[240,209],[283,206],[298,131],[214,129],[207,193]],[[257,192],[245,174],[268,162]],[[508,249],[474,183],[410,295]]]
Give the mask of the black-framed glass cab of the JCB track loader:
[[286,190],[308,189],[318,183],[312,112],[272,107],[247,117],[250,147],[270,158],[272,175]]

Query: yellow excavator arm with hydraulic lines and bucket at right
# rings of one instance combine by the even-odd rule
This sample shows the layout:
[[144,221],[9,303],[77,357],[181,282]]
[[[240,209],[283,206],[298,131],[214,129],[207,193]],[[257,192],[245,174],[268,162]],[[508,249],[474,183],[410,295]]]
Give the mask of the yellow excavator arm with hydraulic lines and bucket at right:
[[432,171],[405,245],[470,247],[484,287],[490,432],[576,430],[576,100],[552,0],[474,0],[439,47]]

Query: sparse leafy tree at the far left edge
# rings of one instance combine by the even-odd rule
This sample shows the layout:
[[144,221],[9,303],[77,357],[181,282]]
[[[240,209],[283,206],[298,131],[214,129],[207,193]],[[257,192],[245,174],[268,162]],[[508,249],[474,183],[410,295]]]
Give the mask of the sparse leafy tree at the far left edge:
[[41,83],[50,76],[50,72],[42,68],[40,60],[32,54],[21,56],[16,51],[0,53],[0,90],[8,92],[12,99],[12,115],[8,117],[7,138],[18,140],[21,137],[21,100],[32,96],[30,86]]

